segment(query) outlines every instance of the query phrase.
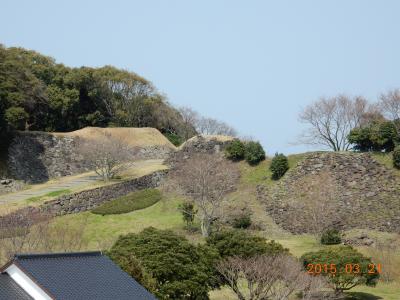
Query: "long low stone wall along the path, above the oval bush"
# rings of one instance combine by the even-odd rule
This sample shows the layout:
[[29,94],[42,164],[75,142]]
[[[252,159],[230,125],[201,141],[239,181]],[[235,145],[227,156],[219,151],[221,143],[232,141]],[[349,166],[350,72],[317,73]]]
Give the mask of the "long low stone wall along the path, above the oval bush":
[[124,196],[135,190],[155,188],[160,185],[165,174],[166,171],[157,171],[121,183],[61,196],[55,200],[44,203],[40,207],[40,210],[52,216],[91,210],[104,202]]

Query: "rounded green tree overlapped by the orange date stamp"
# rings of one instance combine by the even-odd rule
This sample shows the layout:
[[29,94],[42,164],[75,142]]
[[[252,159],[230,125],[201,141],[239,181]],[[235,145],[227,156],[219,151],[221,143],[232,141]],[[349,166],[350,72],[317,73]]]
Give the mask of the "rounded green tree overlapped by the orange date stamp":
[[[377,267],[373,265],[371,259],[350,246],[329,247],[317,252],[308,252],[301,259],[308,271],[312,269],[309,264],[321,265],[322,271],[314,274],[326,276],[337,294],[358,285],[375,286],[379,278]],[[317,269],[315,268],[315,271]]]

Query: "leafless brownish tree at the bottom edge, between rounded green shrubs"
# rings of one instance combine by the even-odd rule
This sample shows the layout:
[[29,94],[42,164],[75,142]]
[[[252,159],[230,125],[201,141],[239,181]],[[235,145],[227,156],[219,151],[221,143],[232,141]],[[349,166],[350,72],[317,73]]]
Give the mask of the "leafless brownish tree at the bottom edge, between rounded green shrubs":
[[[295,292],[302,292],[302,299],[311,299],[325,286],[322,278],[306,274],[288,255],[229,257],[217,265],[217,270],[239,300],[283,300]],[[318,299],[323,298],[319,294]]]

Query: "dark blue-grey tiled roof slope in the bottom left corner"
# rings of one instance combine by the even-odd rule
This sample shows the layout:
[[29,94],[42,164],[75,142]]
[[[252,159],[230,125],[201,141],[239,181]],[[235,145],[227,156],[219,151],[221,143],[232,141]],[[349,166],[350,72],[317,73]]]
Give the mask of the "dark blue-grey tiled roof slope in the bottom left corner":
[[101,252],[16,255],[14,264],[57,300],[155,300]]

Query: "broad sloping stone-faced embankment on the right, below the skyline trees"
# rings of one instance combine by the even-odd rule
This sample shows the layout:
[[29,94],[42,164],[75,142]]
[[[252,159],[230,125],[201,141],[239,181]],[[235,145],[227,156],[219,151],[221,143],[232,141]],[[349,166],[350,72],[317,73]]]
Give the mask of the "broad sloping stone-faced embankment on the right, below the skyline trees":
[[258,198],[292,233],[321,227],[400,232],[400,178],[367,153],[313,153]]

